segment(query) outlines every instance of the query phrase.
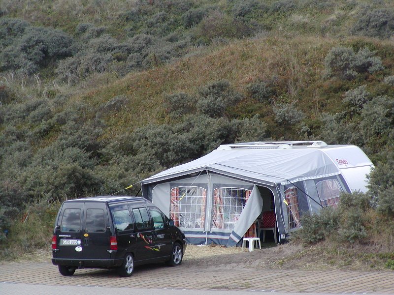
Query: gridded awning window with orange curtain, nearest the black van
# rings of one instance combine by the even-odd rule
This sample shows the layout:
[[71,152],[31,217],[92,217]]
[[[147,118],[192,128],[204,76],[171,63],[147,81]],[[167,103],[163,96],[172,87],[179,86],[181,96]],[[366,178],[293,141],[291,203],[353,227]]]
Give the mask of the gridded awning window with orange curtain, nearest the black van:
[[171,189],[170,218],[181,228],[203,229],[205,222],[206,189],[179,186]]

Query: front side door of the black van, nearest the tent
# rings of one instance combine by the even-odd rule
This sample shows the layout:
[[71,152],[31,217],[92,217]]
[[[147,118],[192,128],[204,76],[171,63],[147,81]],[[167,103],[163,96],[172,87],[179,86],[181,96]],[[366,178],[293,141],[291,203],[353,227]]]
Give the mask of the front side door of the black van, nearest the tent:
[[169,229],[164,213],[156,207],[148,207],[153,221],[154,253],[156,257],[168,257],[171,254],[171,230]]

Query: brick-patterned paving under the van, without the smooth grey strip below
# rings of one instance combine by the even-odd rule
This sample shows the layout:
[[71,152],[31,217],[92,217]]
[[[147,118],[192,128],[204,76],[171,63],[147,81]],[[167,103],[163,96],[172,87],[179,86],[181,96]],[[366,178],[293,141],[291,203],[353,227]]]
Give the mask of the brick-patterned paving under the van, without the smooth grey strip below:
[[[224,277],[223,277],[224,275]],[[0,265],[0,283],[124,288],[177,288],[193,290],[275,290],[342,294],[394,294],[392,271],[304,271],[279,269],[138,267],[130,278],[113,270],[78,269],[64,277],[46,263]]]

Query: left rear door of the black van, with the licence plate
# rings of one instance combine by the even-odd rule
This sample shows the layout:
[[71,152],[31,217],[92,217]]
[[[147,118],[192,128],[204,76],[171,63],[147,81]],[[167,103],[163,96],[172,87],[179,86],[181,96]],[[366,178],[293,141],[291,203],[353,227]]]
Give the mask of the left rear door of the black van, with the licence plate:
[[55,232],[59,251],[54,253],[54,258],[75,260],[82,258],[82,213],[83,203],[63,205]]

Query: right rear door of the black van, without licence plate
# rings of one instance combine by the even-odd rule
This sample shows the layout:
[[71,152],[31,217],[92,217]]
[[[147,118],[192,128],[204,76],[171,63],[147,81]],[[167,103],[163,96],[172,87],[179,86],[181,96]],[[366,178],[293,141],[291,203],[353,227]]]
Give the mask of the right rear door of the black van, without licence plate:
[[83,259],[110,259],[107,250],[111,231],[104,203],[85,203],[82,233]]

